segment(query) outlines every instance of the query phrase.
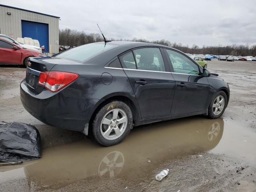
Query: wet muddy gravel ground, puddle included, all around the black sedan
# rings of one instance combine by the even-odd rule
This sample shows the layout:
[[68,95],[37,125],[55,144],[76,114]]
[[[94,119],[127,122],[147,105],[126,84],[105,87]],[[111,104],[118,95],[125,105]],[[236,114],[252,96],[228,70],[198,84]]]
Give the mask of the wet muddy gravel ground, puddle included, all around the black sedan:
[[0,191],[256,191],[256,62],[213,60],[208,69],[230,85],[222,118],[138,126],[101,147],[28,114],[19,98],[26,69],[0,66],[0,121],[36,126],[43,148],[39,160],[0,167]]

